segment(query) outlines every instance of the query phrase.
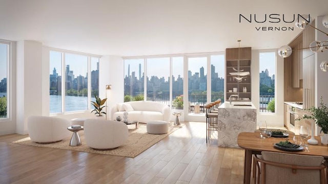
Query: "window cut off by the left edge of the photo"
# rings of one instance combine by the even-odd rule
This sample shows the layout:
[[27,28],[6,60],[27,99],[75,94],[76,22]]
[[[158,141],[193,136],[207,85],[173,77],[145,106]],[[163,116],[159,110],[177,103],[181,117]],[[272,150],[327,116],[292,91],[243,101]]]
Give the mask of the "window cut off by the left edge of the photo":
[[9,118],[10,42],[0,40],[0,120]]

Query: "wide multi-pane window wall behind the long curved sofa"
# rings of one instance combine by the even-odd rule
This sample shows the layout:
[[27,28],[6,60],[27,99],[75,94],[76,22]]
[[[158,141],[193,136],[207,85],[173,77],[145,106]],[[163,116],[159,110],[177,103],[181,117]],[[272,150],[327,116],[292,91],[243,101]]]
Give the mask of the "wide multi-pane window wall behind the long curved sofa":
[[204,104],[224,99],[224,54],[129,57],[124,58],[124,67],[125,102],[157,101],[188,112],[200,108],[196,113],[201,113]]

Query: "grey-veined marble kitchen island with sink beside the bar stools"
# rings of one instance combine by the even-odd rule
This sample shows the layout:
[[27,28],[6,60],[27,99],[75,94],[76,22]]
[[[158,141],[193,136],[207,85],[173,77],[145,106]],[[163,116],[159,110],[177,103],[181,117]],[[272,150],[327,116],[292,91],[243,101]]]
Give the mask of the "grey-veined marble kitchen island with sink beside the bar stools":
[[238,147],[240,132],[256,130],[256,108],[252,102],[224,102],[218,108],[218,146]]

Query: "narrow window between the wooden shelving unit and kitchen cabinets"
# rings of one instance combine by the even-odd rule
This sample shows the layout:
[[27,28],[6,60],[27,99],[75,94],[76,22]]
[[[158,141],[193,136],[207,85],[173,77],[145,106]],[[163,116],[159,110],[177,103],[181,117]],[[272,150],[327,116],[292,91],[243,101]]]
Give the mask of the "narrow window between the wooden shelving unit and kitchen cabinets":
[[276,53],[260,52],[260,112],[275,112]]

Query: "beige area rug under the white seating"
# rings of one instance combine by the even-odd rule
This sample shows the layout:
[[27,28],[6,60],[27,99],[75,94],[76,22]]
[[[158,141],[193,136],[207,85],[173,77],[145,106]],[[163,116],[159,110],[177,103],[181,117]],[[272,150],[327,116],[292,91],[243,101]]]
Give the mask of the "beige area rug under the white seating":
[[128,142],[125,145],[122,145],[116,149],[108,150],[108,151],[97,151],[88,147],[84,139],[84,131],[78,132],[82,143],[81,146],[75,146],[75,147],[69,146],[71,137],[68,137],[63,141],[53,144],[37,144],[32,142],[30,137],[26,137],[24,139],[17,140],[12,143],[134,158],[138,156],[140,153],[150,148],[151,146],[153,146],[154,144],[156,144],[157,142],[159,142],[160,140],[164,139],[166,136],[168,136],[175,130],[181,128],[183,125],[185,124],[181,124],[179,126],[170,126],[169,132],[166,134],[149,134],[147,133],[147,128],[145,124],[139,124],[139,128],[137,129],[135,128],[134,124],[128,125],[129,127]]

